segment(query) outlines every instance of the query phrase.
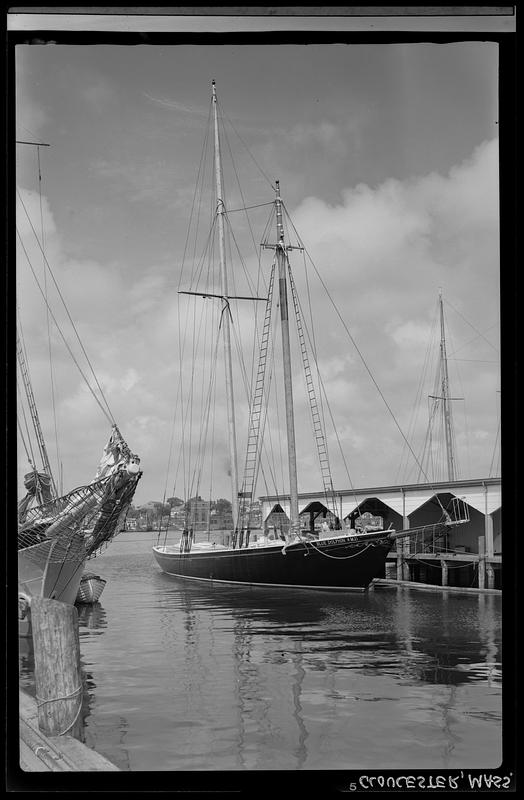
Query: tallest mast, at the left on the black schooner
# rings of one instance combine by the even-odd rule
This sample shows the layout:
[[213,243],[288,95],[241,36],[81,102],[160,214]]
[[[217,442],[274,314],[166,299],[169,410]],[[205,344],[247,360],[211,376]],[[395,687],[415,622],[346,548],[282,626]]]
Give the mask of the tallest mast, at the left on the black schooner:
[[231,332],[227,268],[226,268],[226,248],[224,242],[224,215],[226,213],[223,194],[222,194],[222,165],[220,160],[220,138],[218,135],[218,111],[215,81],[213,85],[213,122],[215,130],[215,184],[217,195],[217,218],[218,218],[218,237],[220,253],[220,286],[222,292],[222,317],[221,324],[224,332],[224,357],[226,375],[226,402],[227,402],[227,423],[229,433],[229,461],[231,469],[231,510],[233,514],[233,529],[238,523],[238,465],[237,465],[237,440],[235,428],[235,401],[233,395],[233,367],[231,359]]

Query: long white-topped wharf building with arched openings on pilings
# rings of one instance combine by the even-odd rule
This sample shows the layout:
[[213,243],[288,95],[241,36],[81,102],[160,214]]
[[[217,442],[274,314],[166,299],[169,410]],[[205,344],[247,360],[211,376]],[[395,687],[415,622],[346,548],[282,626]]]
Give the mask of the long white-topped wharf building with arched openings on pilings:
[[[437,586],[502,589],[501,479],[478,478],[402,486],[299,494],[301,527],[340,523],[358,527],[371,519],[384,530],[414,529],[442,521],[442,509],[462,501],[468,521],[445,533],[416,532],[398,539],[384,575]],[[264,529],[289,527],[289,495],[259,498]],[[338,519],[337,519],[338,518]]]

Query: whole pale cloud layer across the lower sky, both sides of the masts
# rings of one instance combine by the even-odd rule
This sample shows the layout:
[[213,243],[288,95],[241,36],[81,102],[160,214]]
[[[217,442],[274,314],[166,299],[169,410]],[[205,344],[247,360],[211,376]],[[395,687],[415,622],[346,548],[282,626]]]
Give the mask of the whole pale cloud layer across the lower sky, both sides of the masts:
[[[304,135],[310,135],[303,131]],[[332,132],[324,129],[327,139]],[[100,165],[102,169],[104,165]],[[105,165],[106,169],[109,166]],[[405,181],[388,180],[377,186],[359,184],[348,187],[337,203],[326,203],[311,196],[293,212],[293,222],[301,232],[307,248],[301,254],[292,252],[295,281],[300,292],[306,340],[311,333],[309,298],[315,326],[315,344],[322,380],[329,398],[329,409],[317,387],[317,401],[322,402],[326,419],[329,451],[334,482],[338,487],[348,483],[346,464],[353,483],[378,485],[395,480],[403,449],[402,438],[392,421],[384,401],[371,379],[387,399],[390,408],[406,432],[417,395],[431,333],[438,290],[449,297],[454,308],[478,330],[486,330],[497,319],[498,299],[498,143],[485,142],[467,161],[454,166],[447,175],[421,175]],[[39,219],[39,198],[36,193],[21,191],[32,219]],[[177,299],[178,264],[144,264],[130,271],[116,261],[72,258],[56,230],[52,210],[43,198],[46,229],[46,252],[55,271],[71,314],[85,343],[91,363],[104,388],[109,405],[127,437],[131,448],[142,457],[145,469],[140,484],[139,500],[158,497],[165,482],[165,465],[171,441],[171,425],[175,412],[180,424],[180,388],[193,380],[194,396],[205,404],[210,375],[212,350],[201,354],[200,375],[191,375],[189,350],[182,367],[178,363],[180,331],[191,330],[197,300]],[[43,274],[42,256],[34,234],[20,209],[18,222],[21,235],[38,274]],[[88,248],[86,247],[86,254]],[[311,257],[312,262],[309,260]],[[38,388],[42,407],[44,435],[53,441],[53,413],[49,388],[49,352],[45,312],[26,257],[21,251],[18,263],[18,285],[21,315],[28,344],[31,345],[31,374]],[[314,265],[314,266],[313,266]],[[250,266],[246,262],[246,266]],[[318,274],[317,274],[318,271]],[[319,278],[322,278],[322,281]],[[323,291],[324,283],[330,296]],[[51,284],[48,285],[51,294]],[[184,284],[184,288],[188,288]],[[193,286],[193,289],[196,289]],[[246,294],[238,279],[238,294]],[[56,295],[53,292],[53,307]],[[214,307],[216,322],[220,304],[198,298],[200,305]],[[333,303],[336,306],[333,305]],[[57,308],[59,307],[59,304]],[[263,316],[263,304],[258,313]],[[58,310],[57,310],[58,318]],[[474,357],[473,345],[460,350],[474,338],[474,330],[447,309],[450,343],[466,357]],[[65,316],[60,312],[60,321]],[[254,311],[244,304],[234,319],[240,327],[253,326]],[[451,335],[451,322],[456,328]],[[69,329],[68,329],[69,330]],[[366,366],[355,350],[348,331],[355,340]],[[494,337],[496,328],[490,332]],[[56,406],[59,411],[60,436],[64,441],[63,460],[68,485],[79,485],[90,479],[96,469],[108,432],[107,420],[51,326],[54,342]],[[70,331],[68,333],[70,335]],[[292,347],[300,352],[292,334]],[[216,334],[215,334],[216,339]],[[233,337],[235,347],[237,339]],[[74,337],[71,337],[74,341]],[[495,341],[495,337],[492,339]],[[238,339],[244,347],[246,364],[251,357],[251,339],[245,334]],[[216,342],[215,342],[216,344]],[[489,350],[479,358],[496,358],[492,348],[479,339],[476,343]],[[280,350],[277,333],[275,348]],[[451,352],[450,346],[450,352]],[[83,358],[78,346],[76,357]],[[84,371],[90,375],[85,359]],[[450,361],[450,370],[460,366]],[[311,358],[316,382],[316,366]],[[473,473],[488,474],[496,435],[498,367],[496,364],[462,365],[462,381],[455,382],[456,391],[465,397],[457,406],[455,421],[457,439],[462,449],[462,463],[470,462]],[[451,374],[451,373],[450,373]],[[431,381],[433,374],[428,371]],[[91,379],[91,376],[90,376]],[[214,488],[217,496],[227,495],[229,485],[224,463],[228,461],[222,367],[216,369],[216,410],[208,435],[215,433],[216,464],[221,469]],[[247,431],[247,404],[243,377],[235,375],[238,391],[239,469],[243,467],[243,446]],[[279,385],[279,374],[273,387]],[[311,491],[319,486],[320,476],[311,439],[311,421],[304,399],[300,370],[294,376],[297,404],[297,451],[299,486]],[[415,439],[423,440],[429,392],[423,392]],[[178,404],[178,408],[177,408]],[[463,424],[462,411],[469,420]],[[182,432],[187,437],[190,426],[196,437],[202,433],[195,412],[190,420],[185,407],[183,429],[176,428],[172,463],[181,457]],[[331,414],[336,422],[335,433]],[[283,402],[277,413],[270,414],[275,459],[285,451]],[[417,439],[418,437],[418,439]],[[422,437],[422,438],[421,438]],[[338,452],[341,443],[343,457]],[[418,449],[418,447],[417,447]],[[279,457],[279,456],[278,456]],[[24,465],[21,466],[23,472]],[[301,469],[302,467],[302,469]],[[278,474],[280,467],[274,467]],[[284,470],[286,474],[286,470]],[[272,491],[271,486],[267,487]],[[169,489],[171,491],[171,487]],[[259,487],[259,491],[265,491]],[[179,492],[180,493],[180,492]]]

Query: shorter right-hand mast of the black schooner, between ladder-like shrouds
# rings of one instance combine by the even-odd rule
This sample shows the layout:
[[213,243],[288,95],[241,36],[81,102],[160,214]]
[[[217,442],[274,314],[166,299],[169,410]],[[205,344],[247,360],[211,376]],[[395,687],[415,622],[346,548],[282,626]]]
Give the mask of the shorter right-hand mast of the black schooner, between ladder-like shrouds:
[[284,245],[284,226],[282,224],[282,201],[280,199],[280,182],[276,181],[276,217],[278,265],[278,285],[280,295],[280,322],[282,330],[282,356],[284,366],[284,395],[286,402],[287,453],[289,465],[289,498],[291,533],[298,533],[298,486],[297,486],[297,454],[295,447],[295,419],[293,412],[293,377],[291,373],[291,348],[289,344],[289,314],[286,282],[286,248]]

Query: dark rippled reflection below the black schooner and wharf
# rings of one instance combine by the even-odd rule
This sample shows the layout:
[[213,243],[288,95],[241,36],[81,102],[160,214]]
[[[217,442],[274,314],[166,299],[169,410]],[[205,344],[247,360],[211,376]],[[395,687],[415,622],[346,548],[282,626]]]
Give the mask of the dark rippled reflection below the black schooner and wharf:
[[[176,587],[176,588],[175,588]],[[447,593],[413,593],[405,587],[393,592],[342,597],[327,593],[278,592],[271,589],[212,589],[171,582],[168,594],[181,601],[189,625],[194,609],[230,615],[234,630],[260,639],[286,638],[300,642],[309,669],[330,667],[364,672],[394,673],[399,679],[436,684],[500,680],[498,635],[499,598],[480,596],[479,613],[471,598]],[[162,603],[165,602],[165,595]],[[451,603],[451,608],[450,608]],[[169,630],[171,615],[164,611]],[[242,622],[239,622],[239,619]],[[237,652],[244,658],[244,651]],[[287,656],[267,648],[264,659],[283,663]]]

